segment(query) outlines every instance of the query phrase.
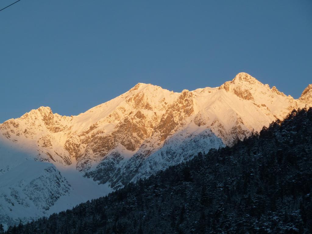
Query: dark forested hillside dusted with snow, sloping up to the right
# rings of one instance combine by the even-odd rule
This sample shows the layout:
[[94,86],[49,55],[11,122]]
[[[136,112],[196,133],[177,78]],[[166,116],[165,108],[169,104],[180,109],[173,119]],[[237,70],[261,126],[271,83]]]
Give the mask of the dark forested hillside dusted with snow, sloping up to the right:
[[5,233],[312,233],[312,109]]

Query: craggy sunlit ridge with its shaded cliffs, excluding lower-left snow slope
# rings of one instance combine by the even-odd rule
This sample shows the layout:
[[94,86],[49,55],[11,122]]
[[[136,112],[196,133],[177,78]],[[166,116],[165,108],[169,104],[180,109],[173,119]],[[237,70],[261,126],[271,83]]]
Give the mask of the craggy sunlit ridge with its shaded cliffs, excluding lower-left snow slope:
[[246,73],[217,88],[181,93],[139,83],[78,116],[53,114],[49,107],[31,110],[0,124],[0,133],[35,152],[36,160],[70,165],[74,158],[77,170],[118,188],[168,167],[170,158],[175,164],[195,148],[232,145],[311,105],[311,87],[295,100]]

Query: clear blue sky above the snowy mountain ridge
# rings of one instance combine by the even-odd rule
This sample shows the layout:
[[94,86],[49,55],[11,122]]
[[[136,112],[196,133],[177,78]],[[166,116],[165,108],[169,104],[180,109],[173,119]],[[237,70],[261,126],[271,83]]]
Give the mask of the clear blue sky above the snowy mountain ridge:
[[139,82],[180,92],[242,71],[298,98],[311,43],[311,0],[21,0],[0,12],[0,122],[42,105],[77,115]]

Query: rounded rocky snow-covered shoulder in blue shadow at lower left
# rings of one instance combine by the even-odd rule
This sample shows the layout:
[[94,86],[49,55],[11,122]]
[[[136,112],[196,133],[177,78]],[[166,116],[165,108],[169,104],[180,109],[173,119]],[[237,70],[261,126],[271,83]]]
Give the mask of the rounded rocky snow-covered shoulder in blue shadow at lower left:
[[53,164],[33,160],[27,160],[0,179],[0,223],[7,225],[49,214],[46,211],[71,189]]

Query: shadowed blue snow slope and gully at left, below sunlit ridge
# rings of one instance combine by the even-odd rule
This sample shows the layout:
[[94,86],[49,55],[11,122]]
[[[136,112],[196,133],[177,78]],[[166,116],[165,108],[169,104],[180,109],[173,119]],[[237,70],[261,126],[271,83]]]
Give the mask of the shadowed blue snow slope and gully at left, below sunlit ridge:
[[0,224],[4,227],[72,208],[111,191],[82,177],[74,164],[56,168],[33,159],[31,151],[14,143],[0,144]]

